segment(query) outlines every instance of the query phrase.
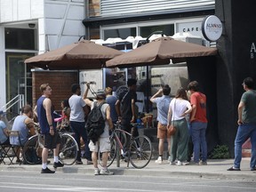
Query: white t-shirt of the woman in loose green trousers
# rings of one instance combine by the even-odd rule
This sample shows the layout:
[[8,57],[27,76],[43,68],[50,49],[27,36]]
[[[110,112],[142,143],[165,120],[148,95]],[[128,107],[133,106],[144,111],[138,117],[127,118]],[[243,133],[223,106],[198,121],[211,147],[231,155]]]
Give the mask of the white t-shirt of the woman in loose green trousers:
[[[174,107],[175,105],[175,107]],[[184,112],[190,107],[190,103],[188,100],[182,99],[173,99],[170,103],[170,108],[172,108],[172,121],[180,120],[185,118],[185,116],[181,116]],[[175,108],[175,109],[174,109]]]

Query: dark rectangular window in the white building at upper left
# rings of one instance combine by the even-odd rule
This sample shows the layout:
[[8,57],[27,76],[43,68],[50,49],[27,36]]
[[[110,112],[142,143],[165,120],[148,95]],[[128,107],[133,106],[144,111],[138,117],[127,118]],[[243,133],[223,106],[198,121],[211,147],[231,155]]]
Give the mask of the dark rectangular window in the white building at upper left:
[[36,50],[35,29],[5,28],[5,49]]

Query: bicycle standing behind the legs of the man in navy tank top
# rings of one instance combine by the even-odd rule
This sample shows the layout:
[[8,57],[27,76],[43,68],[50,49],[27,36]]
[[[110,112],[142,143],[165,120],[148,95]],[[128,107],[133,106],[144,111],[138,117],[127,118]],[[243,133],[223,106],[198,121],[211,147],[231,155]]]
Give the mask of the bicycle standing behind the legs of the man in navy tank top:
[[[44,148],[44,136],[40,133],[39,124],[35,124],[36,135],[28,139],[23,147],[23,159],[27,164],[41,164],[42,150]],[[72,136],[72,132],[60,133],[60,161],[63,164],[71,165],[76,162],[78,145]]]

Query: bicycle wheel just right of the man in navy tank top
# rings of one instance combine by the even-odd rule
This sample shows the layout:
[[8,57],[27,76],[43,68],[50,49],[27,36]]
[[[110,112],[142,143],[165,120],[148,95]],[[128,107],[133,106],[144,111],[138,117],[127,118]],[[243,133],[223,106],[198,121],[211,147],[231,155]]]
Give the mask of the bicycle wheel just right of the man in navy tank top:
[[78,146],[76,140],[68,133],[60,134],[59,157],[63,164],[71,165],[76,162]]

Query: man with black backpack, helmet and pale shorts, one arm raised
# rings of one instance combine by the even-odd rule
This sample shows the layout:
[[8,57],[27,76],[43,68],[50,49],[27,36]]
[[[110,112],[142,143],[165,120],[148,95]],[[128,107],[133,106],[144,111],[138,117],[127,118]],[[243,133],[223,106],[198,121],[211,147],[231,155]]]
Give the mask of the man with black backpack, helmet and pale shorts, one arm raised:
[[[87,118],[86,128],[90,139],[89,148],[92,151],[94,175],[113,175],[114,172],[110,172],[107,167],[108,152],[110,151],[109,129],[113,128],[110,107],[105,102],[106,94],[104,90],[98,90],[96,92],[96,101],[87,99],[90,84],[86,85],[87,89],[84,92],[84,101],[92,109]],[[101,170],[98,167],[98,150],[102,153]]]

